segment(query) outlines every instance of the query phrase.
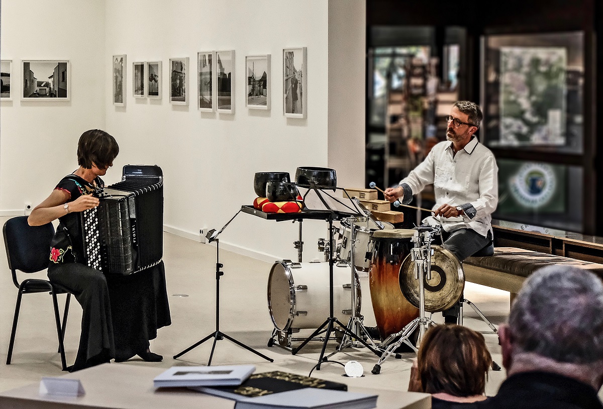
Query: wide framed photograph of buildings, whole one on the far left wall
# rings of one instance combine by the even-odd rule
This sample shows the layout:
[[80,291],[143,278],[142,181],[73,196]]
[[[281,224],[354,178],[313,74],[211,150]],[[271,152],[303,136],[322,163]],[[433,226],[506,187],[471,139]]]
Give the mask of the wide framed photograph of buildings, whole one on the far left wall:
[[69,101],[69,61],[24,60],[22,63],[24,100]]

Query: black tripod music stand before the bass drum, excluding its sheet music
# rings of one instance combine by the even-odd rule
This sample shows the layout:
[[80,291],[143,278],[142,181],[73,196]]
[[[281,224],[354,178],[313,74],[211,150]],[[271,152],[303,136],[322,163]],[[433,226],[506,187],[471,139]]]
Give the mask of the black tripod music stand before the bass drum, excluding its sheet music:
[[[329,207],[329,205],[326,203],[326,201],[324,200],[324,198],[321,196],[319,190],[321,192],[323,192],[323,194],[325,195],[329,195],[327,192],[324,192],[324,190],[322,189],[333,189],[332,186],[315,186],[315,185],[311,185],[309,186],[308,192],[310,191],[314,191],[316,192],[318,198],[320,199],[320,201],[324,204],[324,206],[326,207],[326,209],[329,211],[327,213],[327,221],[329,222],[329,243],[333,243],[333,220],[336,220],[338,218],[338,213],[333,210],[332,208]],[[336,188],[335,188],[336,189]],[[308,192],[306,192],[305,196],[304,196],[304,202],[307,203],[306,201],[306,196],[308,195]],[[338,198],[332,197],[329,195],[330,198],[334,199],[336,202],[343,204],[344,206],[346,206],[346,208],[351,209],[349,206],[347,206],[346,204],[342,203],[341,201],[338,200]],[[352,285],[354,285],[355,282],[352,282]],[[352,306],[352,309],[354,308],[354,306]],[[306,338],[299,346],[293,348],[291,350],[291,354],[295,355],[297,354],[297,352],[299,352],[300,349],[302,349],[304,346],[306,346],[306,344],[312,340],[312,338],[314,338],[316,335],[320,334],[321,331],[323,331],[323,328],[326,328],[326,334],[324,336],[324,342],[323,342],[323,347],[321,349],[320,352],[320,357],[318,358],[318,365],[316,367],[317,370],[320,370],[320,366],[321,364],[324,362],[324,360],[326,360],[326,357],[324,356],[324,352],[327,348],[327,342],[329,341],[330,337],[332,336],[332,332],[334,331],[334,326],[335,324],[338,324],[339,326],[341,326],[341,328],[343,328],[344,333],[348,334],[350,337],[358,340],[360,343],[362,343],[365,347],[367,347],[368,349],[371,350],[371,352],[373,352],[374,354],[380,356],[380,351],[377,351],[376,349],[374,349],[373,347],[371,347],[369,344],[367,344],[364,340],[362,340],[362,338],[359,338],[358,335],[353,334],[352,332],[350,332],[349,329],[347,329],[347,326],[343,325],[343,323],[341,323],[336,317],[335,315],[333,315],[333,256],[330,255],[329,256],[329,317],[327,317],[327,319],[316,329],[316,331],[314,331],[308,338]]]

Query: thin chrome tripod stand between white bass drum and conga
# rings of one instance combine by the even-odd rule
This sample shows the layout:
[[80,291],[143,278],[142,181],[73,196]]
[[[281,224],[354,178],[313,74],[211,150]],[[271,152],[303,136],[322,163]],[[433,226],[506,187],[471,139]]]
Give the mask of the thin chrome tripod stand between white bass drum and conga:
[[358,221],[364,221],[366,218],[363,217],[349,217],[344,220],[348,220],[350,223],[350,267],[352,267],[352,317],[347,322],[346,332],[341,338],[341,343],[335,350],[332,352],[327,358],[330,358],[332,355],[335,355],[337,352],[341,352],[343,349],[347,347],[359,347],[361,343],[359,341],[352,340],[349,333],[355,334],[356,339],[362,338],[363,340],[368,340],[371,343],[373,348],[378,349],[377,345],[373,342],[373,339],[368,334],[367,329],[364,326],[364,317],[362,315],[356,315],[356,306],[358,305],[358,294],[356,291],[356,262],[354,259],[354,254],[356,252],[356,226],[355,223]]

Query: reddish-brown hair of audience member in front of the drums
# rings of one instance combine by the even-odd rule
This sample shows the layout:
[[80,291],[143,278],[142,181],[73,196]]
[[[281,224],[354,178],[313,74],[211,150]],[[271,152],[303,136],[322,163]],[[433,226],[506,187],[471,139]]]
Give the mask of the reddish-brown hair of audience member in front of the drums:
[[461,325],[438,325],[426,332],[418,351],[418,374],[426,393],[454,396],[485,391],[492,357],[484,335]]

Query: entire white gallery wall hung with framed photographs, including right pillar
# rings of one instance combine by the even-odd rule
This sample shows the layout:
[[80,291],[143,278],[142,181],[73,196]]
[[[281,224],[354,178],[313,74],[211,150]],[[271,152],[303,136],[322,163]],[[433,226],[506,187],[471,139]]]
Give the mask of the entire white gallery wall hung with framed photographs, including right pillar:
[[[287,171],[293,179],[297,166],[329,166],[337,171],[339,186],[364,185],[364,0],[59,3],[65,11],[59,28],[33,24],[35,30],[24,31],[28,10],[47,3],[1,2],[2,59],[60,58],[72,66],[69,103],[2,102],[0,211],[5,214],[19,211],[26,200],[39,203],[74,170],[77,138],[95,127],[115,136],[120,146],[106,182],[119,180],[127,163],[159,165],[165,230],[192,239],[199,239],[202,228],[219,229],[242,204],[251,204],[259,171]],[[58,34],[63,41],[54,40]],[[46,43],[63,48],[41,46]],[[308,49],[307,116],[285,118],[282,49],[301,46]],[[235,50],[235,112],[199,112],[197,52],[227,49]],[[127,55],[125,107],[112,104],[115,54]],[[256,54],[271,54],[268,111],[245,109],[245,55]],[[174,57],[189,57],[188,106],[169,103],[168,60]],[[134,98],[132,63],[155,60],[163,62],[162,99]],[[34,166],[42,172],[32,171]],[[326,237],[326,227],[324,221],[304,223],[306,260],[321,257],[316,244]],[[297,234],[297,223],[239,214],[220,243],[263,259],[294,259]]]

